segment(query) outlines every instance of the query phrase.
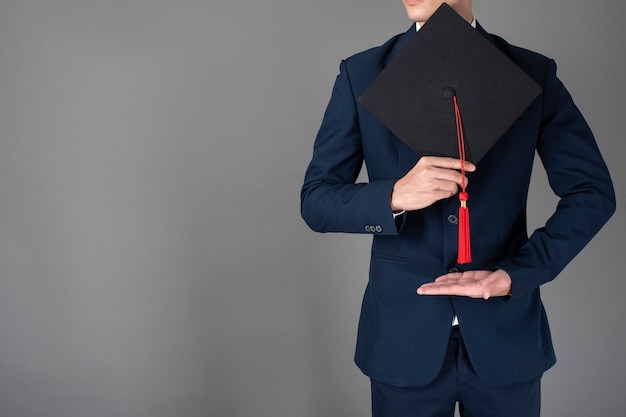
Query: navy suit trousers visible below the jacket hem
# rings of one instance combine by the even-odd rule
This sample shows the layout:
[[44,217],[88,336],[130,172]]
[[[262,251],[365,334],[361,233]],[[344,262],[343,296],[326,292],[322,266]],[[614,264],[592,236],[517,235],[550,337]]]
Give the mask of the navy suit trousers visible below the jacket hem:
[[541,377],[505,386],[475,373],[458,326],[452,327],[441,372],[422,387],[396,387],[371,380],[373,417],[538,417]]

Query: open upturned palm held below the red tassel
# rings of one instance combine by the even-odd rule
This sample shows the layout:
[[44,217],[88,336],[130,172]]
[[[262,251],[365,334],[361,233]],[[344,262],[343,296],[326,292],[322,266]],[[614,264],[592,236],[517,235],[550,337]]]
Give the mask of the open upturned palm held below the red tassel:
[[511,277],[506,271],[466,271],[442,275],[417,289],[419,295],[462,295],[471,298],[503,297],[511,294]]

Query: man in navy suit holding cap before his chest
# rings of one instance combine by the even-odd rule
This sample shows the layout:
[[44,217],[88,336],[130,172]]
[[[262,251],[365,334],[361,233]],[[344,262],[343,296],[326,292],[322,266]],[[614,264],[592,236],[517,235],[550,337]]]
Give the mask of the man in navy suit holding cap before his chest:
[[[477,164],[409,149],[358,101],[443,3],[403,2],[415,26],[341,63],[302,216],[319,232],[373,235],[355,361],[371,379],[375,417],[452,416],[457,402],[464,416],[538,416],[540,379],[555,362],[539,287],[610,218],[611,179],[554,61],[487,34],[471,0],[445,3],[542,93]],[[560,202],[528,237],[535,152]],[[369,182],[355,183],[363,162]],[[464,184],[472,195],[468,264],[457,262],[459,202],[451,198]]]

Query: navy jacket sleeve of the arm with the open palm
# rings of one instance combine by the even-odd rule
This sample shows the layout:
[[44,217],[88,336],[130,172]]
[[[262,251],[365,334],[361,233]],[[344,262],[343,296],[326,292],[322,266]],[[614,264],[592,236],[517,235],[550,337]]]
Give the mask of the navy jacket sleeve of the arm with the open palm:
[[552,60],[543,88],[537,153],[560,200],[545,227],[499,265],[511,276],[513,297],[556,277],[615,211],[607,167],[589,126],[556,77]]

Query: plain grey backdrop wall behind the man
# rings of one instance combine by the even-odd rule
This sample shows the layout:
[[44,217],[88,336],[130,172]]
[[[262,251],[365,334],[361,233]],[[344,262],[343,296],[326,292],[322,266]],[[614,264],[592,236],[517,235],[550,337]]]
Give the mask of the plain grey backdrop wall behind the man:
[[[0,416],[365,416],[366,236],[299,190],[341,58],[400,0],[0,1]],[[556,58],[618,211],[544,288],[544,416],[626,405],[624,2],[478,0]],[[554,207],[541,170],[531,227]]]

